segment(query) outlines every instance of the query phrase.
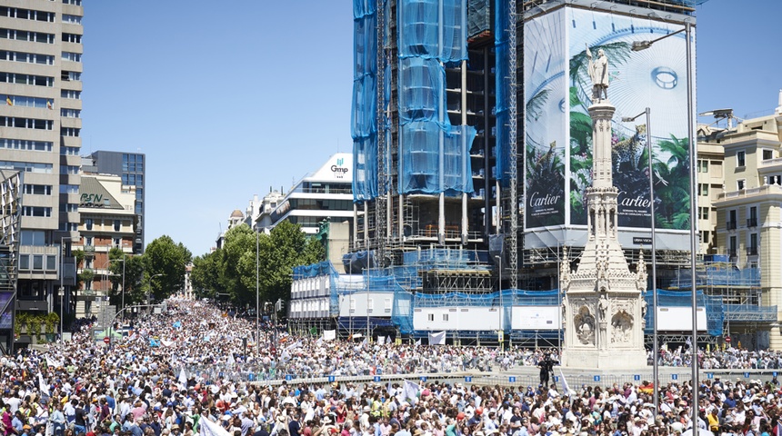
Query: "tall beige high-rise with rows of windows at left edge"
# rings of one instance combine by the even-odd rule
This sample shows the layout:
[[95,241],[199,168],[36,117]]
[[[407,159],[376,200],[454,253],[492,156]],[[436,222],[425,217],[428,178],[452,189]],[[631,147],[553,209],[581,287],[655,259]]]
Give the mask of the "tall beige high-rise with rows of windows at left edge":
[[60,256],[78,241],[81,3],[0,1],[0,168],[24,173],[19,311],[52,311],[73,283],[60,280],[72,262]]

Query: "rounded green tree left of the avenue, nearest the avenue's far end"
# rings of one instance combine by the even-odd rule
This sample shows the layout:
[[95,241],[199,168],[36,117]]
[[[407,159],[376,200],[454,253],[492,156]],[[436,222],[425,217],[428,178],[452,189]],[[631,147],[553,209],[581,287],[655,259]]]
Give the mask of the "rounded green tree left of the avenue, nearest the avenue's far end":
[[146,246],[144,253],[144,292],[153,302],[165,300],[185,289],[185,266],[192,254],[182,243],[163,235]]

